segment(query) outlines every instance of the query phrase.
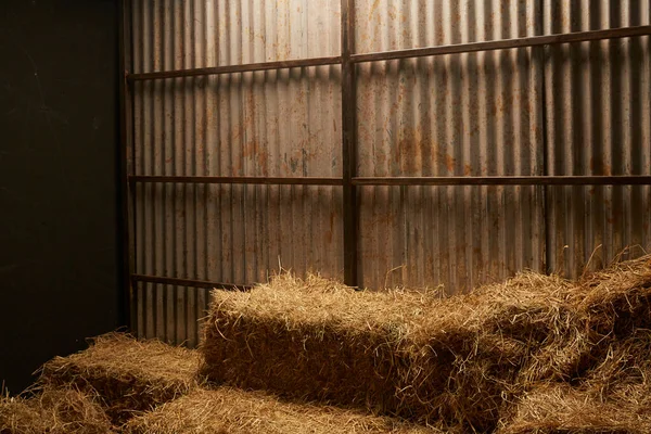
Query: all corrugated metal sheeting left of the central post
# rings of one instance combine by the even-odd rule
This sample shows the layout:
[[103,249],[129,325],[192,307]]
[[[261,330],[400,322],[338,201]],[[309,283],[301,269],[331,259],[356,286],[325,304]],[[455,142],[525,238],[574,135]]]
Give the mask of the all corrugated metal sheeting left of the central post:
[[[133,72],[339,54],[339,0],[133,1]],[[341,177],[341,67],[133,84],[135,175]],[[136,272],[341,278],[339,187],[136,187]],[[203,290],[141,283],[139,333],[196,341]],[[182,315],[181,315],[182,314]],[[175,326],[176,324],[176,326]]]

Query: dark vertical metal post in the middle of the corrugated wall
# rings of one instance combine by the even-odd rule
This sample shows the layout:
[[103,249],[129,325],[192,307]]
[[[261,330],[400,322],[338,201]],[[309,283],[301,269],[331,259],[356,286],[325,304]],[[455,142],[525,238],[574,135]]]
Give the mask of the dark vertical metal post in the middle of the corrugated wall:
[[344,180],[344,282],[358,286],[358,207],[353,178],[357,173],[356,111],[357,92],[355,64],[355,3],[342,0],[342,163]]

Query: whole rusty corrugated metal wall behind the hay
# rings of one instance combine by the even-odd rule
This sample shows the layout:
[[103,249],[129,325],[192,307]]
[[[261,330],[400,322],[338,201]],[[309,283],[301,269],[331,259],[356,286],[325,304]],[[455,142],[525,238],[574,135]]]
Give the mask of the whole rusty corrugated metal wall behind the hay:
[[[649,24],[649,1],[356,0],[368,53]],[[616,3],[616,4],[615,4]],[[133,0],[133,72],[339,55],[339,0]],[[357,66],[359,176],[651,175],[649,38]],[[341,69],[137,81],[136,175],[341,177]],[[341,187],[138,184],[136,272],[343,275]],[[360,187],[361,284],[448,292],[651,245],[649,187]],[[567,246],[567,247],[564,247]],[[142,283],[197,340],[207,291]]]

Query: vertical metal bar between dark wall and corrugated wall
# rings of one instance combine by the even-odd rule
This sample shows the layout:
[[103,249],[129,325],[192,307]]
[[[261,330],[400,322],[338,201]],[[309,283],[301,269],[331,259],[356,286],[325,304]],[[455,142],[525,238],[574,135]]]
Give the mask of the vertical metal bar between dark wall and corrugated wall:
[[132,65],[131,56],[131,0],[122,0],[118,7],[118,29],[119,29],[119,171],[120,171],[120,202],[122,202],[122,256],[123,256],[123,292],[122,309],[123,315],[120,323],[125,324],[130,331],[138,323],[136,319],[137,309],[135,308],[135,289],[131,276],[133,273],[133,247],[131,234],[132,213],[131,207],[131,187],[129,184],[129,175],[132,175],[132,131],[133,131],[133,99],[131,88],[127,80],[129,68]]

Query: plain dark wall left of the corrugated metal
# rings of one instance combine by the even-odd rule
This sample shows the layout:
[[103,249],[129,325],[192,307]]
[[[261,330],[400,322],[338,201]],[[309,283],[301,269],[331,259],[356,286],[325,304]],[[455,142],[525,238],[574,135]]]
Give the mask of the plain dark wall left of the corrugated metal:
[[117,1],[0,1],[0,382],[118,327]]

